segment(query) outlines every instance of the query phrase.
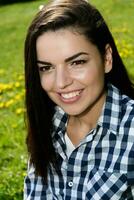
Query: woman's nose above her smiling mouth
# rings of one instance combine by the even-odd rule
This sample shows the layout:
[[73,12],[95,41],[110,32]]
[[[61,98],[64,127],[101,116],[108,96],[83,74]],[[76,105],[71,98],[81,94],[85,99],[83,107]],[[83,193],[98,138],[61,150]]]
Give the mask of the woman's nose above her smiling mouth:
[[60,65],[56,70],[56,86],[58,89],[64,89],[67,86],[71,85],[73,82],[72,77],[70,76],[69,71],[66,69],[66,66]]

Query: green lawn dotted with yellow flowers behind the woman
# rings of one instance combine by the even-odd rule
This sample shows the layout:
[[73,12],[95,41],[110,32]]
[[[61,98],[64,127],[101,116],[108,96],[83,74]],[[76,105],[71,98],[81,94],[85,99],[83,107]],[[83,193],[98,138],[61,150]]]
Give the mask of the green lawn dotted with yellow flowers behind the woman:
[[[92,0],[115,37],[134,77],[134,1]],[[0,200],[20,200],[26,174],[23,46],[27,27],[43,1],[0,7]]]

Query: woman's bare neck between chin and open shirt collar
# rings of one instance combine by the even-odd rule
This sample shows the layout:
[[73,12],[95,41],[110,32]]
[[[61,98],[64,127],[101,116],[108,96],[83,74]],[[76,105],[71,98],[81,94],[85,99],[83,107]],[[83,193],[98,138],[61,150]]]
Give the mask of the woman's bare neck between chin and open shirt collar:
[[105,99],[106,93],[103,92],[98,100],[82,114],[69,116],[67,133],[74,145],[77,145],[90,130],[96,127]]

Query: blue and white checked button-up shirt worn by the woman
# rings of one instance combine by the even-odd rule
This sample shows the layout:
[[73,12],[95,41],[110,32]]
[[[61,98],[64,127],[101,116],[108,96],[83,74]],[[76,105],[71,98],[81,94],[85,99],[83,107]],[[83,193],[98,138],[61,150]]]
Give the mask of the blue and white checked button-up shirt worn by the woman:
[[[57,109],[53,144],[59,170],[49,168],[48,184],[28,169],[25,200],[133,200],[134,100],[108,86],[95,129],[68,158],[64,134],[67,115]],[[77,133],[76,133],[77,134]]]

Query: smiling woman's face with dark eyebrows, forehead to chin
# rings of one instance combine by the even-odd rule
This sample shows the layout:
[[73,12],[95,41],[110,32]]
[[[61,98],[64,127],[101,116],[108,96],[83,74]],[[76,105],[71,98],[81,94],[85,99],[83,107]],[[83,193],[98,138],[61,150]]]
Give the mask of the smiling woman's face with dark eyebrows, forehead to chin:
[[71,29],[48,31],[36,44],[42,88],[69,115],[80,115],[104,97],[103,62],[95,45]]

